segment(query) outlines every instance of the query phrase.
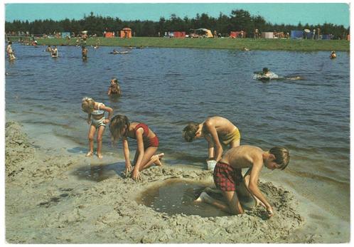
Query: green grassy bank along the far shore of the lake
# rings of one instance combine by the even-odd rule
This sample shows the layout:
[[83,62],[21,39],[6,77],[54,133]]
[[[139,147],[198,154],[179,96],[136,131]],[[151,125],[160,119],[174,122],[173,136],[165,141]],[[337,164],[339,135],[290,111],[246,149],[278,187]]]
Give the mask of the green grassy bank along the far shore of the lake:
[[[349,41],[334,40],[293,40],[293,39],[253,39],[253,38],[89,38],[87,46],[95,45],[100,39],[100,46],[150,46],[169,48],[212,48],[237,49],[244,47],[251,50],[281,51],[350,51]],[[38,38],[39,45],[75,45],[76,38]]]

